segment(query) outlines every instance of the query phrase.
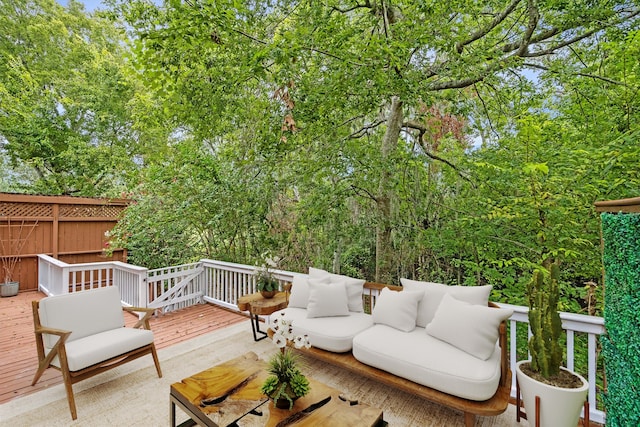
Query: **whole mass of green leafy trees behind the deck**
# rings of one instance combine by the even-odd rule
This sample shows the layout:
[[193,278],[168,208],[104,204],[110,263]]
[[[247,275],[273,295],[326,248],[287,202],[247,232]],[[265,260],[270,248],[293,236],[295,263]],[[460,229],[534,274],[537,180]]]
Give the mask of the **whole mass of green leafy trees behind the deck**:
[[124,191],[111,244],[147,267],[270,252],[525,305],[562,257],[560,309],[599,313],[592,205],[640,183],[636,2],[108,4],[0,6],[3,189]]

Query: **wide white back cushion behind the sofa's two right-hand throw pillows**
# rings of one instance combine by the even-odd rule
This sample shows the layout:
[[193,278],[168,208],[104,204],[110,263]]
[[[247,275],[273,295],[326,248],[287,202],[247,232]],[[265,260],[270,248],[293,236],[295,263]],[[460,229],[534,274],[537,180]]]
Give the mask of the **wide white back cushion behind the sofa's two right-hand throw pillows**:
[[436,314],[436,310],[445,294],[470,304],[486,306],[489,303],[491,285],[486,286],[447,286],[442,283],[420,282],[402,278],[400,283],[407,291],[424,291],[424,297],[418,305],[416,325],[426,327]]

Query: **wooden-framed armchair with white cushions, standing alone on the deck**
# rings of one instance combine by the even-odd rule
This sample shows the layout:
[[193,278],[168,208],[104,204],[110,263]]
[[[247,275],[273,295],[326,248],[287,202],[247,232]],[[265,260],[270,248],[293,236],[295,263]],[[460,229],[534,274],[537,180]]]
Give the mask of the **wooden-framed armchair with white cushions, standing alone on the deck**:
[[[74,420],[72,384],[78,381],[146,354],[151,354],[162,377],[149,327],[153,309],[122,307],[117,287],[46,297],[32,305],[39,359],[32,385],[47,368],[60,370]],[[123,310],[146,315],[133,328],[126,328]]]

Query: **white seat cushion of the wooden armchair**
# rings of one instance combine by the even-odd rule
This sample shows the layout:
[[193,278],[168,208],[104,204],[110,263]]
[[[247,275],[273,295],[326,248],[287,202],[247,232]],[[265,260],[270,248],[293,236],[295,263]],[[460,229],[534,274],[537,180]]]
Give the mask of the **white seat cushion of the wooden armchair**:
[[[65,348],[69,370],[79,371],[152,342],[153,332],[134,328],[112,329],[67,342]],[[47,348],[45,352],[49,353],[50,350]],[[60,367],[60,360],[57,356],[51,364]]]

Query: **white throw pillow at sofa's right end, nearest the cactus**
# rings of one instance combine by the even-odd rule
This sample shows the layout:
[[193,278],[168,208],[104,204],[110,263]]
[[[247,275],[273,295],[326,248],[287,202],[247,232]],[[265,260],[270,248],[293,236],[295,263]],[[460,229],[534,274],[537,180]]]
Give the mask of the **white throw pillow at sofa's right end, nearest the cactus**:
[[513,310],[469,304],[445,295],[426,331],[478,359],[487,360],[500,336],[498,326],[512,314]]

